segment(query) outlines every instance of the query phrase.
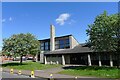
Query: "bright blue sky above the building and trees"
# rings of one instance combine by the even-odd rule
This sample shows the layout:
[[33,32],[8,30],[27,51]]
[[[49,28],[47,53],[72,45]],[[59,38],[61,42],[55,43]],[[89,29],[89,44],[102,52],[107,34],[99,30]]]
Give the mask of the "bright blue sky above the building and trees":
[[55,35],[72,34],[79,43],[88,39],[86,29],[104,11],[118,12],[117,2],[3,2],[2,38],[13,34],[32,33],[37,39],[50,37],[50,25]]

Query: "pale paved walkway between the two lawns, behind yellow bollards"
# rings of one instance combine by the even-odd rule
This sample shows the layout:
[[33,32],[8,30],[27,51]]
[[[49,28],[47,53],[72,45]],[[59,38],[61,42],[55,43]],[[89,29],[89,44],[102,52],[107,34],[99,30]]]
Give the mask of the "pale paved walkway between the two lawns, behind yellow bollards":
[[[46,70],[35,70],[34,75],[35,77],[41,77],[41,78],[50,78],[50,74],[53,74],[53,78],[75,78],[75,76],[71,76],[71,75],[58,74],[58,72],[62,70],[63,70],[62,67],[46,69]],[[3,68],[3,71],[10,72],[10,69]],[[18,74],[18,70],[14,70],[14,73]],[[23,75],[30,76],[31,71],[22,70],[21,73]],[[78,76],[78,78],[93,78],[93,77]]]

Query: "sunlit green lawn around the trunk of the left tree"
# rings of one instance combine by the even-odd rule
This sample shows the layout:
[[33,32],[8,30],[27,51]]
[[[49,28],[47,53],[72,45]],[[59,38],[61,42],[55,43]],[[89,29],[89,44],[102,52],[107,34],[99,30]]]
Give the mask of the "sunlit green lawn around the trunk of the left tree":
[[59,67],[61,65],[50,65],[50,64],[40,64],[39,62],[23,62],[22,65],[17,62],[12,62],[12,63],[6,63],[3,64],[2,67],[5,68],[13,68],[13,69],[19,69],[19,70],[42,70],[42,69],[48,69],[48,68],[54,68],[54,67]]

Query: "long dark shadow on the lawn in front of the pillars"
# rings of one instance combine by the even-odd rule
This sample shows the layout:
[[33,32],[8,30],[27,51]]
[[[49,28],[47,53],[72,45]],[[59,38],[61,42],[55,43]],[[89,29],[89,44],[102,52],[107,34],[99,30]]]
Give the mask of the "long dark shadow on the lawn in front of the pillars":
[[66,66],[63,69],[74,69],[74,70],[114,70],[116,67],[99,67],[99,66]]

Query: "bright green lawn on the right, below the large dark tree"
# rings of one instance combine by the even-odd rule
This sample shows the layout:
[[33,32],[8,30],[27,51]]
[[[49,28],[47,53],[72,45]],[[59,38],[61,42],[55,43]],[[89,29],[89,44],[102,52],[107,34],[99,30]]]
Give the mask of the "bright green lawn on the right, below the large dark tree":
[[65,68],[64,71],[59,72],[60,74],[68,74],[74,76],[93,76],[100,78],[120,78],[120,70],[111,67],[69,67]]

